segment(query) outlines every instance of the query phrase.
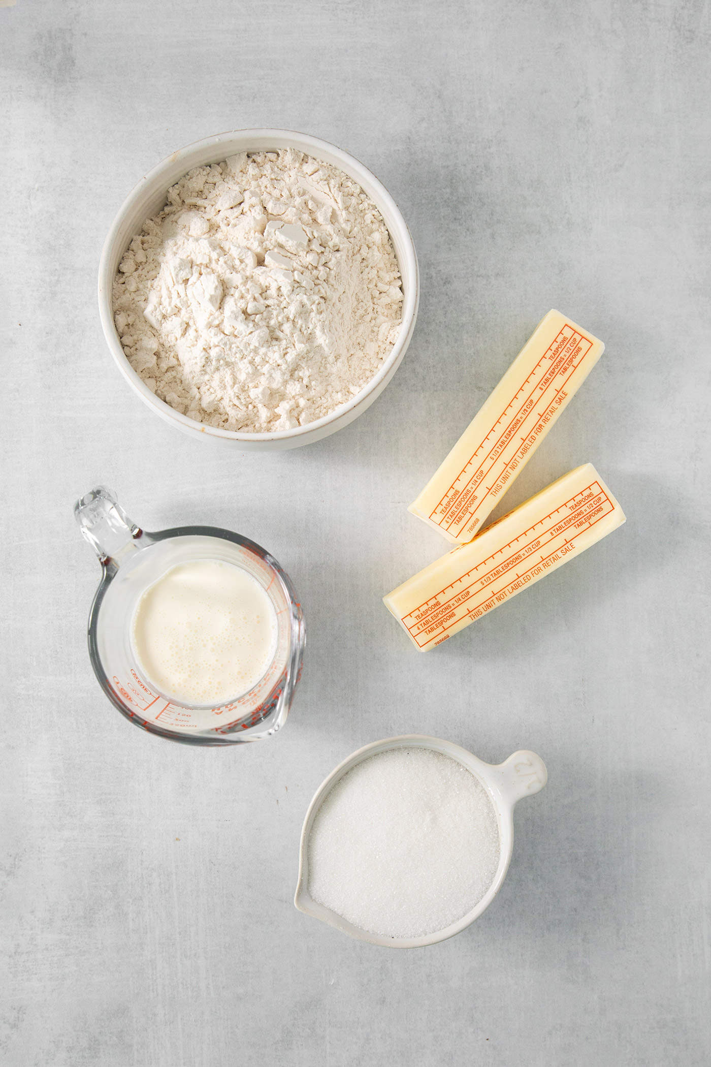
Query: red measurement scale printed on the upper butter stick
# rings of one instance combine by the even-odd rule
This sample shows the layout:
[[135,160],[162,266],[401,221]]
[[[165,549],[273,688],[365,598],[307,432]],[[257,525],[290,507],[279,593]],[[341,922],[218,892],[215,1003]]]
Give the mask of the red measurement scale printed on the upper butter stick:
[[[569,335],[566,335],[565,333],[566,330],[570,331]],[[584,351],[582,351],[583,345],[585,344],[587,345],[587,348]],[[443,494],[443,496],[437,504],[436,508],[434,508],[434,510],[431,512],[430,519],[433,522],[435,522],[438,526],[441,526],[443,529],[449,530],[453,525],[455,524],[458,525],[465,517],[468,519],[473,517],[473,515],[480,509],[480,507],[482,506],[486,497],[489,495],[489,493],[491,493],[497,485],[502,484],[501,479],[503,478],[506,471],[510,469],[512,461],[516,459],[516,457],[521,451],[521,446],[519,445],[514,455],[504,463],[503,469],[501,471],[499,476],[495,479],[495,481],[487,487],[484,495],[478,498],[476,506],[470,509],[467,507],[467,505],[468,501],[471,499],[473,489],[475,489],[475,484],[472,487],[472,482],[479,484],[480,482],[484,481],[486,475],[490,473],[490,471],[492,469],[496,461],[500,459],[505,448],[507,448],[511,442],[514,440],[514,433],[516,432],[516,430],[519,429],[521,426],[523,426],[526,420],[531,415],[533,409],[536,407],[536,402],[540,402],[544,399],[544,397],[546,397],[546,394],[549,393],[551,386],[553,386],[555,382],[558,375],[561,372],[562,368],[565,367],[566,362],[571,357],[575,361],[576,355],[578,355],[578,350],[581,351],[582,354],[580,355],[580,359],[578,360],[577,363],[575,362],[572,363],[570,371],[567,375],[567,377],[563,380],[563,382],[559,386],[555,387],[553,395],[545,401],[545,407],[543,411],[536,412],[536,424],[533,427],[532,431],[529,431],[524,436],[521,437],[521,442],[526,442],[531,436],[531,432],[534,432],[536,427],[539,426],[540,419],[551,413],[553,407],[555,405],[555,399],[558,397],[558,394],[564,388],[564,386],[568,383],[572,375],[582,365],[583,361],[587,356],[592,347],[593,347],[593,341],[588,337],[585,337],[585,335],[582,334],[579,330],[573,329],[573,327],[571,327],[570,323],[568,322],[565,323],[565,325],[559,331],[558,336],[555,337],[553,343],[548,347],[546,352],[542,355],[540,360],[538,360],[538,362],[536,363],[533,370],[531,370],[531,372],[528,375],[528,377],[521,384],[521,387],[518,389],[516,397],[518,397],[519,394],[521,394],[526,389],[527,385],[535,377],[538,369],[548,361],[550,363],[550,366],[544,373],[543,378],[539,381],[537,381],[536,384],[533,386],[533,388],[527,394],[518,411],[516,411],[516,413],[514,414],[513,418],[505,427],[505,429],[503,429],[499,433],[499,435],[497,436],[496,441],[489,448],[486,456],[484,456],[483,459],[481,460],[476,469],[472,471],[471,475],[469,476],[469,479],[458,490],[457,495],[453,497],[451,500],[448,500],[449,494],[456,487],[456,483],[458,482],[459,478],[462,478],[466,474],[467,468],[474,462],[476,453],[484,447],[484,445],[491,436],[491,434],[497,431],[497,427],[504,418],[507,408],[510,408],[511,403],[513,403],[516,400],[516,397],[514,397],[514,400],[507,405],[507,408],[504,409],[504,411],[501,413],[499,418],[496,420],[491,429],[484,437],[482,444],[478,446],[473,456],[469,460],[467,460],[467,462],[462,467],[462,469],[459,471],[458,475],[456,476],[452,484],[449,487],[447,492]],[[537,389],[540,389],[540,393],[538,397],[535,398],[534,400],[534,393],[536,393]],[[516,424],[516,420],[519,418],[524,408],[528,410],[526,411],[523,416],[520,417],[519,423],[517,425],[514,425]],[[492,453],[495,452],[496,455],[492,456]],[[486,467],[485,469],[485,465],[489,460],[490,463],[488,464],[488,467]],[[438,517],[435,517],[440,508],[442,508],[441,514]]]

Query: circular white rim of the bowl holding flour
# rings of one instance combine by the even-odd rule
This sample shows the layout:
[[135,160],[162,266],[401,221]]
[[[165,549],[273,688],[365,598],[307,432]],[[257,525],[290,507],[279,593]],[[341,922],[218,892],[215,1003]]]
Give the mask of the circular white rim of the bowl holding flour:
[[[126,216],[131,211],[135,203],[142,197],[146,186],[153,185],[158,182],[158,179],[162,177],[166,169],[176,162],[180,157],[187,154],[192,154],[198,148],[207,148],[214,146],[215,148],[221,147],[225,143],[228,143],[235,138],[247,138],[253,137],[255,139],[260,138],[279,138],[289,140],[290,138],[297,138],[302,142],[306,142],[309,145],[309,154],[319,159],[319,150],[326,149],[328,153],[336,155],[341,163],[345,164],[342,166],[345,174],[354,180],[359,180],[357,176],[360,172],[370,182],[376,193],[377,198],[369,196],[375,203],[378,211],[381,211],[381,201],[386,205],[388,211],[392,214],[397,228],[399,229],[399,237],[401,238],[401,243],[403,245],[403,256],[407,262],[408,272],[411,274],[413,283],[408,286],[407,291],[403,293],[403,312],[402,321],[400,325],[400,333],[398,338],[392,346],[392,349],[383,362],[383,365],[378,369],[370,381],[363,385],[362,389],[357,393],[351,400],[346,400],[345,403],[340,404],[333,412],[327,415],[321,416],[319,419],[314,419],[312,423],[307,423],[305,426],[294,427],[290,430],[278,430],[273,432],[260,432],[260,433],[245,433],[239,430],[225,430],[222,427],[209,426],[206,423],[198,423],[194,418],[190,418],[188,415],[183,415],[182,412],[176,411],[169,404],[161,400],[142,380],[141,376],[133,369],[129,363],[124,348],[120,343],[120,337],[118,336],[118,331],[114,323],[113,318],[113,280],[114,272],[110,271],[110,260],[114,254],[115,244],[118,237],[118,232],[124,224]],[[296,147],[296,145],[294,145]],[[313,149],[312,153],[310,149]],[[249,148],[240,149],[227,149],[227,155],[233,154],[237,150],[249,152]],[[259,148],[254,149],[259,152],[269,152],[270,149]],[[297,150],[304,150],[298,148]],[[222,162],[222,156],[217,153],[212,162]],[[192,165],[208,165],[207,161],[201,164]],[[332,164],[334,165],[334,164]],[[188,170],[190,170],[190,165]],[[188,173],[188,170],[185,173]],[[356,175],[352,174],[351,171],[355,171]],[[165,189],[167,195],[167,186]],[[393,228],[388,226],[386,223],[386,228],[388,233]],[[392,235],[390,235],[392,240]],[[403,267],[399,262],[401,278],[403,276]],[[278,442],[278,441],[295,441],[302,436],[307,436],[321,430],[327,426],[330,426],[334,421],[342,419],[349,414],[353,413],[357,407],[368,400],[370,395],[375,392],[376,395],[379,392],[381,384],[384,382],[383,387],[387,384],[388,378],[394,372],[398,364],[402,360],[407,346],[409,345],[415,322],[417,319],[417,310],[419,306],[419,267],[417,261],[417,253],[415,251],[415,242],[413,236],[409,232],[409,227],[405,222],[405,219],[398,207],[394,198],[385,188],[383,182],[369,170],[360,160],[356,159],[350,153],[344,152],[338,145],[333,144],[329,141],[325,141],[322,138],[313,137],[310,133],[303,133],[298,130],[288,130],[288,129],[277,129],[277,128],[252,128],[245,127],[243,129],[225,130],[222,133],[213,133],[207,138],[200,138],[196,141],[191,141],[189,144],[183,145],[180,148],[176,148],[168,156],[165,156],[159,163],[157,163],[151,170],[147,171],[140,181],[132,188],[128,196],[124,200],[118,211],[116,212],[114,220],[111,224],[109,233],[103,242],[101,249],[101,256],[99,260],[99,272],[98,272],[98,302],[99,302],[99,317],[101,320],[101,328],[103,330],[103,335],[109,346],[109,350],[114,359],[114,362],[118,365],[118,369],[124,375],[128,383],[138,392],[141,398],[151,407],[157,414],[164,417],[168,417],[172,420],[178,423],[184,429],[190,432],[205,433],[208,436],[222,439],[226,441],[238,441],[245,443],[266,443],[266,442]],[[355,417],[355,415],[353,416]]]

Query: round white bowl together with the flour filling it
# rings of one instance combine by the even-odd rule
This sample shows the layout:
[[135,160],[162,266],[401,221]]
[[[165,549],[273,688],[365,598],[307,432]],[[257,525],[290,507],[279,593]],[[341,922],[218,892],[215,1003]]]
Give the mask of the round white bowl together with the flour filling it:
[[288,130],[238,130],[163,160],[107,237],[110,351],[156,414],[241,450],[341,429],[388,384],[419,299],[415,246],[384,186]]

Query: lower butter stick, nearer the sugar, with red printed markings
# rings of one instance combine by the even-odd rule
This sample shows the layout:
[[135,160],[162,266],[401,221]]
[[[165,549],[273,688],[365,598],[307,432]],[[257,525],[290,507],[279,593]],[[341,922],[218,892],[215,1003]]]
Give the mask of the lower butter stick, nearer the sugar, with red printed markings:
[[421,652],[441,644],[625,522],[592,463],[576,467],[384,596]]

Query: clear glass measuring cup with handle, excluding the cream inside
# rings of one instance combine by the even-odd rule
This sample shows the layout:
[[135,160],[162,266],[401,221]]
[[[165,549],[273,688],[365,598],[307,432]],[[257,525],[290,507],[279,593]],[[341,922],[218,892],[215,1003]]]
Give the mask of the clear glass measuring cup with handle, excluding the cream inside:
[[[214,526],[147,532],[103,487],[77,501],[75,516],[102,572],[88,615],[88,654],[101,688],[122,715],[187,745],[235,745],[276,733],[291,707],[305,644],[301,604],[276,560],[254,541]],[[171,568],[197,559],[247,571],[266,591],[277,617],[276,652],[266,673],[248,692],[217,706],[184,704],[160,692],[131,644],[142,593]]]

